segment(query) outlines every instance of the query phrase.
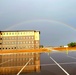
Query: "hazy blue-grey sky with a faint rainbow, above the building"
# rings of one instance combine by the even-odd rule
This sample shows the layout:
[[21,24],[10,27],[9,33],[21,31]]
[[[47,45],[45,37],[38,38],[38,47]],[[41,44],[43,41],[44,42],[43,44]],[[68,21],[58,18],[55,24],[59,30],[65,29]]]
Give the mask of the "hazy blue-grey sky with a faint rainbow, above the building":
[[28,29],[44,46],[76,42],[76,0],[0,0],[0,30]]

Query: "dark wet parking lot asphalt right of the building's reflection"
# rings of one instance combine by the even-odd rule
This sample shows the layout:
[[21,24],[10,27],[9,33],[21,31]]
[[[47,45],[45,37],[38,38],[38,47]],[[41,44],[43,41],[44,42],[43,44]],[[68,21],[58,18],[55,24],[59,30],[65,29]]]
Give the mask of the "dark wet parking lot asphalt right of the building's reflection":
[[41,71],[21,75],[76,75],[76,52],[53,51],[41,54]]

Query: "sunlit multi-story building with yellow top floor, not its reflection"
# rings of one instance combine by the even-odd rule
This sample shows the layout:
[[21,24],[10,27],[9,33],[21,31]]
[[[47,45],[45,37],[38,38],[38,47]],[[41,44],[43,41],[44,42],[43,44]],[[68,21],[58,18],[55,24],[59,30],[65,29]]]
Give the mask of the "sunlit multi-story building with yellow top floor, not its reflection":
[[0,31],[0,50],[39,48],[40,31]]

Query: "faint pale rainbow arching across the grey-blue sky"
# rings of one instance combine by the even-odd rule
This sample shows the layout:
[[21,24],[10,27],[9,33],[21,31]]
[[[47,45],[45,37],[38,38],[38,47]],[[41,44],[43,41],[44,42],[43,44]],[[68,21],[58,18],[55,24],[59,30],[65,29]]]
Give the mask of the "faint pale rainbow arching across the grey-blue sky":
[[27,21],[23,21],[23,22],[20,22],[20,23],[17,23],[17,24],[14,24],[14,25],[11,25],[10,27],[6,28],[5,30],[10,30],[14,27],[17,27],[17,26],[20,26],[22,24],[27,24],[27,23],[32,23],[32,22],[49,22],[49,23],[57,23],[57,24],[61,24],[61,25],[64,25],[68,28],[71,28],[73,30],[76,31],[76,28],[66,24],[66,23],[63,23],[63,22],[60,22],[60,21],[56,21],[56,20],[51,20],[51,19],[34,19],[34,20],[27,20]]

